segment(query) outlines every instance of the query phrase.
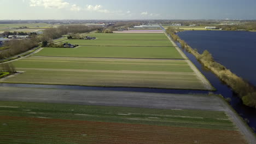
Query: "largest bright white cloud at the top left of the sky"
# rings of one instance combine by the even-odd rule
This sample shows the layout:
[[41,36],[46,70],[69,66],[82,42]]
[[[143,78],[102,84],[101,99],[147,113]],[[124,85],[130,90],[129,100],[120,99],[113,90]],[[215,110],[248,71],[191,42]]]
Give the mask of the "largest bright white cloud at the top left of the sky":
[[30,7],[44,7],[62,9],[68,7],[69,3],[63,0],[30,0]]

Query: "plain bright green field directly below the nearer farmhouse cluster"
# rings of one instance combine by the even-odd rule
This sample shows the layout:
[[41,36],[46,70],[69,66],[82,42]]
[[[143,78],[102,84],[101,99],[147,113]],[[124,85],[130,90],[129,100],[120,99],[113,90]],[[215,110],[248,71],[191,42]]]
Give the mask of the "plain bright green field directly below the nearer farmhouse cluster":
[[79,46],[75,49],[44,48],[34,56],[183,58],[175,47]]

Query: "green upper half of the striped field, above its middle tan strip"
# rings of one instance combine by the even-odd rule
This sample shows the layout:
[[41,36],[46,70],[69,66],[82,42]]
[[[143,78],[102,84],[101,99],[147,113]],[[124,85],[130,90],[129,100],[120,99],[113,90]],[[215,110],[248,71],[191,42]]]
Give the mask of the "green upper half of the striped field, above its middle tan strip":
[[16,68],[193,72],[183,60],[29,57],[13,64]]

